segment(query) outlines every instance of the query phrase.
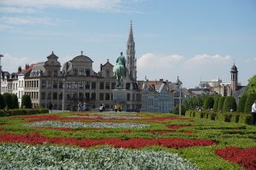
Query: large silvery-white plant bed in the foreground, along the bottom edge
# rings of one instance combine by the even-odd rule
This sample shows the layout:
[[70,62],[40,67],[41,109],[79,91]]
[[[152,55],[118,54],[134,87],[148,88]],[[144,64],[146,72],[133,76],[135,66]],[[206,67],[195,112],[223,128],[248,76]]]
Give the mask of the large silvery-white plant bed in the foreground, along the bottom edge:
[[177,154],[105,147],[85,150],[67,146],[0,144],[0,169],[177,169],[198,170]]

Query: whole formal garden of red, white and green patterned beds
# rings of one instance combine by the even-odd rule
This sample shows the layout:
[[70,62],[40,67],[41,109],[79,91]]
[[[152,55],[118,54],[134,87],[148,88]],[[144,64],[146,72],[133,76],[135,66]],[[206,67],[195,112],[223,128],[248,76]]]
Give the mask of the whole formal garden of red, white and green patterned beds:
[[255,169],[255,134],[170,113],[2,116],[0,169]]

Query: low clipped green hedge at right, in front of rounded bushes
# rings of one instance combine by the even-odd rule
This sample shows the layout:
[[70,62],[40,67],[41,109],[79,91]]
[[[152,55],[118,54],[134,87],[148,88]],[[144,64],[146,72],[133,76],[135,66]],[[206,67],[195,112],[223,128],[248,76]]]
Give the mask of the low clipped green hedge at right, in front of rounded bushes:
[[205,118],[220,122],[244,123],[248,125],[250,125],[252,121],[250,114],[232,112],[218,113],[213,111],[186,111],[185,116]]

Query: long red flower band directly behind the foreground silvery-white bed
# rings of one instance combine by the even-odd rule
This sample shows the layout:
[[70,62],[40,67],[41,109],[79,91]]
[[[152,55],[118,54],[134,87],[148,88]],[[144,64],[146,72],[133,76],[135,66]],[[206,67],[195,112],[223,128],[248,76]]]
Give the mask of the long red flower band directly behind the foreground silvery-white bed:
[[206,146],[216,144],[209,139],[74,139],[74,138],[46,138],[38,133],[0,134],[0,142],[26,144],[72,144],[80,147],[91,147],[110,144],[122,148],[142,148],[144,146],[162,145],[168,148],[185,148],[191,146]]

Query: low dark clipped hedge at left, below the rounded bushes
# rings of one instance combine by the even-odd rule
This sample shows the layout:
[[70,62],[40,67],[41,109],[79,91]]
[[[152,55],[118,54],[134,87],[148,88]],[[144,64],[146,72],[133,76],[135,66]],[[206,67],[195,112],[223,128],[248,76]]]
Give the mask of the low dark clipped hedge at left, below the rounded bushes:
[[20,116],[49,113],[48,109],[14,109],[9,111],[0,110],[0,116]]

